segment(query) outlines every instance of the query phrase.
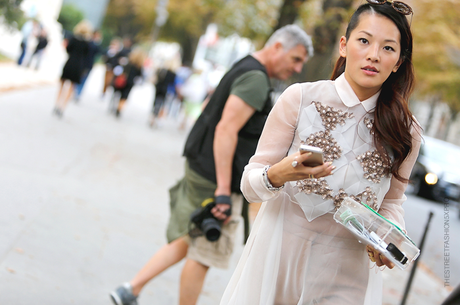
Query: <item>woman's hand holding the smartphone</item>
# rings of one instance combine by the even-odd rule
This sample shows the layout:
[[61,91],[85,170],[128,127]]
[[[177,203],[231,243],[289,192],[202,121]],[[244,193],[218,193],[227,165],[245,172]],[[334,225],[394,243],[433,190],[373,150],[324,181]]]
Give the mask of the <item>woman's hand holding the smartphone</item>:
[[[326,162],[316,167],[305,166],[303,162],[308,160],[311,155],[312,153],[301,154],[300,152],[296,152],[287,156],[270,167],[267,172],[268,180],[270,180],[270,183],[274,187],[279,187],[287,181],[321,178],[332,174],[332,171],[335,169],[332,162]],[[294,167],[294,165],[296,166]]]

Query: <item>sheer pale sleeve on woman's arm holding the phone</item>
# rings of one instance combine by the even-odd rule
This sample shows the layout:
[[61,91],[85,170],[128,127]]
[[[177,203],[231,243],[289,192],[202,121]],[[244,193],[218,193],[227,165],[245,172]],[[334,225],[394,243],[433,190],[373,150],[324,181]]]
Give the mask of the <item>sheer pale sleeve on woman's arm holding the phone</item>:
[[302,101],[299,84],[287,88],[270,112],[255,155],[241,179],[241,191],[249,202],[267,201],[279,195],[264,184],[262,171],[283,159],[291,147]]

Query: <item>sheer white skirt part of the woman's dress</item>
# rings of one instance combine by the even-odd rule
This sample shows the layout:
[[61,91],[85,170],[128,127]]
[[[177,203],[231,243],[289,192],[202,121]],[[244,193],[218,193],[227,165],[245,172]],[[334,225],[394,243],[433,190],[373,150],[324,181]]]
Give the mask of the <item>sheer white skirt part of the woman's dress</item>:
[[377,305],[380,271],[328,213],[309,222],[285,194],[264,202],[221,305]]

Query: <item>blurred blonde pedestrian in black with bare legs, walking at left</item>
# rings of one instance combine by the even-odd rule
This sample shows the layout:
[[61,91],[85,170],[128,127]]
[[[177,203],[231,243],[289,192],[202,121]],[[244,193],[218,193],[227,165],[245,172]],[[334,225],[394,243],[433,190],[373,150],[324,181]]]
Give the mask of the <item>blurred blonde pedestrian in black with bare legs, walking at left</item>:
[[73,36],[67,42],[69,58],[62,69],[59,93],[53,110],[58,117],[62,117],[76,85],[81,82],[92,33],[91,24],[82,20],[75,26]]

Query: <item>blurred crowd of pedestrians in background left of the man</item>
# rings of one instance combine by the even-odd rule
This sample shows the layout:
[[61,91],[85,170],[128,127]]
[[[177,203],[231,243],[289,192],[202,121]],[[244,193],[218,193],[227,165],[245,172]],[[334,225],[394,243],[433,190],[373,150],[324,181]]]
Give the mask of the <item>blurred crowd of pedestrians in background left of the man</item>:
[[[29,20],[21,33],[21,54],[17,63],[39,69],[48,45],[47,32],[37,20]],[[198,69],[177,59],[149,56],[147,47],[135,44],[131,37],[115,37],[104,47],[102,33],[87,20],[78,23],[72,32],[64,32],[63,46],[67,60],[53,109],[53,114],[59,118],[63,117],[69,101],[78,103],[84,97],[85,84],[95,63],[104,65],[101,99],[110,100],[109,110],[116,118],[121,117],[135,85],[153,84],[150,127],[157,126],[166,116],[180,117],[181,129],[190,127],[217,84],[216,74],[219,79],[222,76],[214,69]]]

